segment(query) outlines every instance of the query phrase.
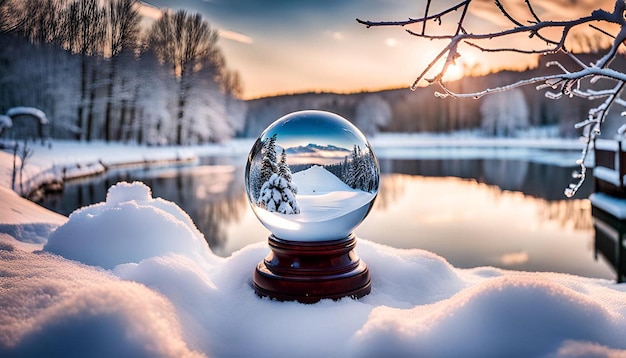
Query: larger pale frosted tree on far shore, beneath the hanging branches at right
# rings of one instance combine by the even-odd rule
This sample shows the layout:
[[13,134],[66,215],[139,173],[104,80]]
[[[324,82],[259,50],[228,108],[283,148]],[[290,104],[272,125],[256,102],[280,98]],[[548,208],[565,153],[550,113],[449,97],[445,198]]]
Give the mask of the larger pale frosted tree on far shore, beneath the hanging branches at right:
[[509,137],[529,124],[528,104],[519,88],[484,97],[480,114],[483,131],[487,135]]

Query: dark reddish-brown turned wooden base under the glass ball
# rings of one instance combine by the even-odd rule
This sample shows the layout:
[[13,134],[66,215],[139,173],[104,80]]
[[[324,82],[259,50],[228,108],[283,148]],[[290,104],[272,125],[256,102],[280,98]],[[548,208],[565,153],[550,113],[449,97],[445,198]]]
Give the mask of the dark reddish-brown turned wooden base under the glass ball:
[[354,252],[356,237],[334,241],[288,241],[271,235],[272,252],[256,267],[254,290],[279,301],[315,303],[324,298],[361,298],[371,290],[367,265]]

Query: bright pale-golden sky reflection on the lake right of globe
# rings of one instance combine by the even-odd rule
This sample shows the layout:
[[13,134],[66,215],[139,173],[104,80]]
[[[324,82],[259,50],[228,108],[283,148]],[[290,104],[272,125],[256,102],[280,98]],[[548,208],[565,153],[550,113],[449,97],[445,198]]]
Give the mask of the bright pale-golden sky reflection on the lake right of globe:
[[425,249],[456,267],[612,277],[604,262],[594,261],[587,199],[550,201],[454,177],[387,174],[381,187],[382,205],[376,202],[356,230],[362,238]]

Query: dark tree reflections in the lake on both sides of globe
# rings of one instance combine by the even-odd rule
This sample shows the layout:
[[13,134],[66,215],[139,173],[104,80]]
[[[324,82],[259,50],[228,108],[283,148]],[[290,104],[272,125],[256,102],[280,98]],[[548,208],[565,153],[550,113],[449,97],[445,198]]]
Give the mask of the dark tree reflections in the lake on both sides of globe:
[[[46,196],[42,205],[69,215],[76,208],[104,201],[108,188],[119,181],[140,180],[152,188],[154,197],[162,197],[181,206],[204,233],[209,246],[214,252],[219,252],[219,248],[228,240],[227,228],[239,222],[247,208],[244,184],[237,180],[243,178],[243,168],[220,165],[231,162],[226,158],[219,162],[203,162],[210,165],[109,172],[100,177],[68,182],[62,194]],[[471,179],[465,181],[467,185],[480,186],[481,190],[489,193],[490,200],[496,201],[511,195],[533,200],[537,215],[543,221],[557,221],[562,227],[576,230],[593,227],[588,200],[566,200],[562,194],[562,183],[568,182],[571,169],[536,163],[520,165],[514,161],[511,164],[500,163],[506,160],[493,161],[493,164],[484,162],[381,160],[383,174],[375,209],[385,211],[393,207],[396,201],[407,195],[411,185],[420,184],[422,176],[453,176]],[[512,166],[510,175],[497,178],[495,173],[506,172],[503,168],[509,166]],[[522,168],[516,169],[517,167]],[[526,174],[522,171],[526,171]],[[519,178],[523,178],[521,184],[517,181]]]

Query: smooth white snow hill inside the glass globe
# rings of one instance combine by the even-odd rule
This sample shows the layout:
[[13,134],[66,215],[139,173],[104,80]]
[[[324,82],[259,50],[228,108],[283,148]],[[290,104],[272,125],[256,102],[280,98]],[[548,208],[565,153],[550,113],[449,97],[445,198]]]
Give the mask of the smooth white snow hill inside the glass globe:
[[334,191],[354,191],[333,173],[319,165],[293,174],[299,195],[319,195]]

